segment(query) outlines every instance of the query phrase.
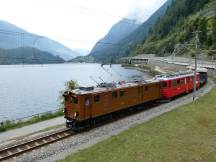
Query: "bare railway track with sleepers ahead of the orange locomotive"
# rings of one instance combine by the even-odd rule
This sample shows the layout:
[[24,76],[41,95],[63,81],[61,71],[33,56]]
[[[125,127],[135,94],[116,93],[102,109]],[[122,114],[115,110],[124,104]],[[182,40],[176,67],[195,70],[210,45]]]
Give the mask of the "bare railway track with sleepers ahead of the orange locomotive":
[[36,148],[70,137],[74,134],[75,132],[72,132],[70,129],[66,129],[12,147],[4,148],[0,150],[0,162],[34,150]]

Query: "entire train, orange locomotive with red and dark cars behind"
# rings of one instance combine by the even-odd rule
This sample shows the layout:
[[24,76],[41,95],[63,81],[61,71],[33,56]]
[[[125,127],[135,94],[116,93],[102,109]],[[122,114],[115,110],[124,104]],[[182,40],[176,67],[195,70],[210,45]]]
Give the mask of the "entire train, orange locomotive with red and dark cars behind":
[[[121,81],[118,84],[101,83],[97,87],[80,87],[65,91],[64,117],[66,127],[80,130],[101,118],[121,110],[160,100],[171,100],[207,83],[207,73],[200,71],[158,75],[149,80]],[[194,78],[196,82],[194,82]]]

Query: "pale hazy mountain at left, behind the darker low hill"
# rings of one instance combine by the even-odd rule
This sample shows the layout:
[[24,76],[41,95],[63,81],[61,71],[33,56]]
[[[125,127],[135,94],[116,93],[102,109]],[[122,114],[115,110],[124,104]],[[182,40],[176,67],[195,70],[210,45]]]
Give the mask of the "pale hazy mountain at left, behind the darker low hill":
[[0,38],[0,48],[2,49],[33,47],[59,56],[64,60],[79,56],[77,52],[57,41],[29,33],[6,21],[0,21]]

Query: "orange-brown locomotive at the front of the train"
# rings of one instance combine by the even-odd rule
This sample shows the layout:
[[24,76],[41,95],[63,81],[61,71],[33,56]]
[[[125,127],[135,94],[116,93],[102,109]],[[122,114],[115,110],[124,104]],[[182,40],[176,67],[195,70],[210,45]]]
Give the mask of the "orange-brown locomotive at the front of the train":
[[64,93],[66,126],[80,128],[107,114],[161,98],[160,82],[149,80],[121,85],[76,89]]

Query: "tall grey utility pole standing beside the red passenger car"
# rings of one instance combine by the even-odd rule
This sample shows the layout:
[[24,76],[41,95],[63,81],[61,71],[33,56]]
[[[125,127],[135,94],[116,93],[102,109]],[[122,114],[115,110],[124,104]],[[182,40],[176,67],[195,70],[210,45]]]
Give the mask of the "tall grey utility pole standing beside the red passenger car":
[[196,75],[197,75],[197,62],[198,62],[198,55],[199,55],[199,33],[201,33],[201,31],[195,31],[193,32],[195,34],[195,67],[194,67],[194,91],[193,91],[193,101],[196,99]]

